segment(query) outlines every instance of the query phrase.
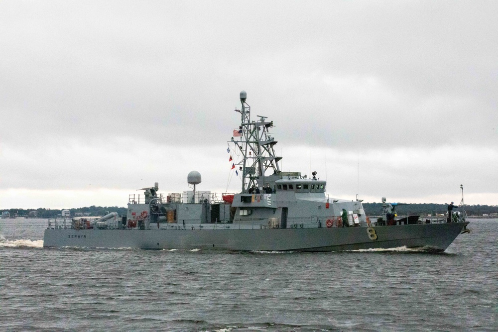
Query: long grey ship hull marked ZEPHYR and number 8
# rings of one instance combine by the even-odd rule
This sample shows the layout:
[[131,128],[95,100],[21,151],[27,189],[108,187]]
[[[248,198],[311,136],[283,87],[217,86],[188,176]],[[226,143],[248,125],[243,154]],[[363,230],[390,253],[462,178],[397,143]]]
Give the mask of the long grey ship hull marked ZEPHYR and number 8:
[[44,247],[342,251],[425,247],[444,251],[468,222],[286,229],[45,229]]

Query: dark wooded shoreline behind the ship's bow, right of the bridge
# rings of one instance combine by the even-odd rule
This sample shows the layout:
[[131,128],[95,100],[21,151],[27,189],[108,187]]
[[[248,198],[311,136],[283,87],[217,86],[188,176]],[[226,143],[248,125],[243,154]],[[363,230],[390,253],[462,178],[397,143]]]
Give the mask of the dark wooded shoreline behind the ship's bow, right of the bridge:
[[[380,216],[382,214],[381,203],[363,203],[363,209],[369,216]],[[454,211],[461,210],[462,208],[458,208]],[[468,216],[482,216],[483,214],[498,213],[498,205],[464,205],[463,210]],[[448,205],[432,203],[401,205],[396,206],[396,212],[398,215],[436,216],[436,214],[446,214]]]

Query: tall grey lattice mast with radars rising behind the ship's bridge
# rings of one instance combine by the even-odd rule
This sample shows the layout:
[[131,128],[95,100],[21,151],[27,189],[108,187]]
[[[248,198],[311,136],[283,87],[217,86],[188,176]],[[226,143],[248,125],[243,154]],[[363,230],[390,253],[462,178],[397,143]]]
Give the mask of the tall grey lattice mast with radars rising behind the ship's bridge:
[[247,93],[242,91],[240,98],[242,109],[235,111],[241,113],[241,137],[240,140],[232,137],[232,141],[243,155],[237,166],[242,171],[242,192],[247,193],[252,186],[264,186],[265,172],[268,169],[273,169],[273,174],[280,172],[277,162],[282,157],[275,156],[273,146],[277,141],[268,131],[268,128],[273,127],[273,121],[266,121],[266,116],[261,115],[256,115],[259,117],[257,121],[251,121],[250,106],[246,103]]

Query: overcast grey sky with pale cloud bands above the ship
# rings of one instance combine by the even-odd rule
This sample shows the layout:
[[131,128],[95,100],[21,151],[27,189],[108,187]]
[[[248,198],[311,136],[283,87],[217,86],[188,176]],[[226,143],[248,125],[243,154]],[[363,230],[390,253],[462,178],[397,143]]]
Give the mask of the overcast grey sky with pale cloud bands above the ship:
[[[498,205],[498,1],[0,0],[0,209],[237,192],[239,93],[331,198]],[[234,158],[237,156],[234,155]],[[231,179],[231,180],[230,180]]]

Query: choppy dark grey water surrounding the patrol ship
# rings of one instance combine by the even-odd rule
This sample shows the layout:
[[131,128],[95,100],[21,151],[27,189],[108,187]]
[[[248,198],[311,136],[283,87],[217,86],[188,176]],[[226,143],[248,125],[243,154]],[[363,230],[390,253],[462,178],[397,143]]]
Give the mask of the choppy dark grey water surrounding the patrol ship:
[[0,220],[0,331],[498,331],[498,219],[444,253],[44,249]]

